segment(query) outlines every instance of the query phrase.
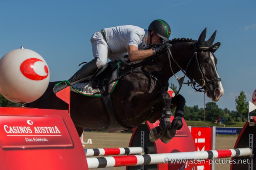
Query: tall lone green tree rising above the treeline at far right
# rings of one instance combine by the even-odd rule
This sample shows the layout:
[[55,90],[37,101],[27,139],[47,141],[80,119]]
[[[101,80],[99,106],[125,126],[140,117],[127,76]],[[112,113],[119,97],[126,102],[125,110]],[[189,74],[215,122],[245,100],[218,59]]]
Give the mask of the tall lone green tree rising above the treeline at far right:
[[241,91],[240,95],[236,97],[236,110],[240,113],[240,121],[242,121],[242,115],[248,113],[248,101],[246,101],[246,96],[244,91]]

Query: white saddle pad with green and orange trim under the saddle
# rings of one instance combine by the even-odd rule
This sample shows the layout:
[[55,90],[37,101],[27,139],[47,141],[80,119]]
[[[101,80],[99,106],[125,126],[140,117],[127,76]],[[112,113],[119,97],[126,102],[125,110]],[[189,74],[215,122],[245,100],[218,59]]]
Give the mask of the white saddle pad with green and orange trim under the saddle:
[[[117,78],[118,78],[118,69],[113,71],[109,82],[111,82]],[[86,96],[101,97],[102,96],[101,94],[95,94],[95,93],[98,93],[101,91],[100,91],[100,89],[92,88],[92,82],[93,81],[76,83],[76,84],[72,85],[71,91],[74,91],[76,93],[80,93],[80,94],[86,95]],[[112,91],[114,90],[114,87],[116,86],[117,83],[118,83],[118,80],[116,80],[116,81],[112,82],[110,85],[108,85],[108,93],[109,94],[112,93]],[[106,88],[103,87],[103,89],[105,90]]]

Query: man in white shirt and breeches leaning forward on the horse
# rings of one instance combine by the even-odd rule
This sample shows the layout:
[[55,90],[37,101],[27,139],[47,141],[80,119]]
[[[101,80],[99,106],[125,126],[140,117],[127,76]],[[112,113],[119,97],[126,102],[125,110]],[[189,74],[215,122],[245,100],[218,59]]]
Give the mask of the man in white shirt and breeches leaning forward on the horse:
[[107,59],[114,61],[128,52],[130,61],[145,59],[152,55],[158,55],[167,48],[163,43],[158,47],[144,49],[151,44],[168,41],[171,34],[170,26],[164,20],[154,20],[148,30],[138,26],[126,25],[105,28],[92,35],[92,53],[94,59],[83,65],[70,79],[69,83],[63,82],[53,88],[54,93],[65,89],[70,83],[93,75],[97,69],[102,68]]

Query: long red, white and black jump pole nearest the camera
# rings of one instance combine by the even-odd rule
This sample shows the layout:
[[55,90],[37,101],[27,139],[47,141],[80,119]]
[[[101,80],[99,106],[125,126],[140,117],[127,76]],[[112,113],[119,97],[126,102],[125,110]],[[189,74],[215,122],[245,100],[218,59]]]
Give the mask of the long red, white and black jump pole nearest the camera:
[[166,154],[145,154],[128,156],[106,156],[86,158],[88,168],[110,168],[118,166],[135,166],[144,164],[162,164],[177,160],[205,160],[214,158],[230,158],[250,156],[251,148],[238,148],[226,150],[209,150],[197,152],[177,152]]

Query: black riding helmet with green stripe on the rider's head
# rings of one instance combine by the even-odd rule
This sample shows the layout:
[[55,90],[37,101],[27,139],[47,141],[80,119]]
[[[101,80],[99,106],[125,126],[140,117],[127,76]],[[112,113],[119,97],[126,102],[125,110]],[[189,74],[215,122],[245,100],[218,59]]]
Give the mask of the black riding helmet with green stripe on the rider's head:
[[164,20],[154,20],[148,26],[148,30],[154,31],[159,37],[168,41],[171,35],[171,28]]

